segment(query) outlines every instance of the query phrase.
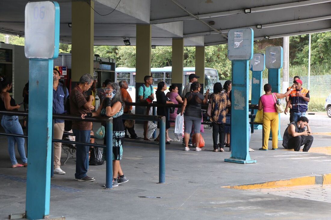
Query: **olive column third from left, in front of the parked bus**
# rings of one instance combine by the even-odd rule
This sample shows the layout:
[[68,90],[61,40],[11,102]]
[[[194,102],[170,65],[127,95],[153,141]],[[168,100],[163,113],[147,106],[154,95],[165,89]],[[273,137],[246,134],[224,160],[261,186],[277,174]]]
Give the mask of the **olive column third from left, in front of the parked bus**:
[[183,90],[184,39],[172,39],[171,84],[178,86],[179,95]]

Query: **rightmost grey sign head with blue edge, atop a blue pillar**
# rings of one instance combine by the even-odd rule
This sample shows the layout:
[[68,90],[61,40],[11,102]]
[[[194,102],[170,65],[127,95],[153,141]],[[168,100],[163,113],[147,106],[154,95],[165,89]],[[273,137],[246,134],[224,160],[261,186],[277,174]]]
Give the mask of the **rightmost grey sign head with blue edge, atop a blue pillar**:
[[267,69],[280,69],[283,67],[283,47],[266,47],[265,56],[265,67]]

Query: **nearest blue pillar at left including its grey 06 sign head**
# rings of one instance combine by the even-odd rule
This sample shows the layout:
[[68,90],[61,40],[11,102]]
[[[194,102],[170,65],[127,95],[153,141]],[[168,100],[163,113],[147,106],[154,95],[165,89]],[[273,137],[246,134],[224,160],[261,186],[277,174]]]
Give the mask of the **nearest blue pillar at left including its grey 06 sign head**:
[[[29,2],[25,6],[25,57],[29,58],[27,219],[49,217],[53,59],[59,54],[60,7],[57,2]],[[53,169],[53,168],[52,168]]]

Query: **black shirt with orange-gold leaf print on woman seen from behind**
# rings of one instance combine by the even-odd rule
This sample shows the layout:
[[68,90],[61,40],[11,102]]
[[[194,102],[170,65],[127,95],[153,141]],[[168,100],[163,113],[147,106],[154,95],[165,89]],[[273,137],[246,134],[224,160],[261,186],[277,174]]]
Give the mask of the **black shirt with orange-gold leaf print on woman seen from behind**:
[[217,124],[225,124],[228,107],[231,106],[230,99],[226,93],[213,93],[209,103],[212,104],[212,117],[210,120]]

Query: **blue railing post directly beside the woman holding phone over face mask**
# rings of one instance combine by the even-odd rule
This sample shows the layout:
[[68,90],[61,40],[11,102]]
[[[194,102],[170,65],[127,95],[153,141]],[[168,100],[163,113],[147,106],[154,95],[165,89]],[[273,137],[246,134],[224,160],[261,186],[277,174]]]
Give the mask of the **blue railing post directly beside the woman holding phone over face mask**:
[[113,118],[107,121],[106,189],[113,188]]

